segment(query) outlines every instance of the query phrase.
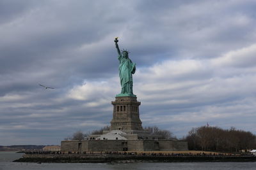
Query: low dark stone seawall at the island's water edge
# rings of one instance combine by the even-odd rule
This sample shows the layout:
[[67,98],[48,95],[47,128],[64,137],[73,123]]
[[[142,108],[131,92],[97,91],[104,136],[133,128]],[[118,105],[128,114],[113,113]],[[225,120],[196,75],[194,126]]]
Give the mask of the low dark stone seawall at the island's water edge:
[[25,154],[13,162],[108,163],[108,162],[256,162],[255,156],[166,156],[104,154]]

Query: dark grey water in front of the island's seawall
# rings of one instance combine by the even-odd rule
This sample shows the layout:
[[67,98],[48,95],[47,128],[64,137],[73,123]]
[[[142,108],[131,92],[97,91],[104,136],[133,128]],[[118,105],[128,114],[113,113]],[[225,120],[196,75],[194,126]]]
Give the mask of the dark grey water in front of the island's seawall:
[[24,170],[66,170],[66,169],[256,169],[256,162],[193,162],[193,163],[127,163],[127,164],[35,164],[35,163],[19,163],[12,160],[22,157],[22,153],[0,152],[0,170],[24,169]]

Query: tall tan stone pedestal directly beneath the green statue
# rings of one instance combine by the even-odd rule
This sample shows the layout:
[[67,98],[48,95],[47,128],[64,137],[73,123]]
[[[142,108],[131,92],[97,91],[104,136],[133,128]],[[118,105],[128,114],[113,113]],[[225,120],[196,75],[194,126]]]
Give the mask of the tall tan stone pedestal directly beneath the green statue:
[[113,104],[113,119],[111,120],[111,131],[120,130],[129,132],[143,131],[140,120],[137,97],[124,96],[116,97]]

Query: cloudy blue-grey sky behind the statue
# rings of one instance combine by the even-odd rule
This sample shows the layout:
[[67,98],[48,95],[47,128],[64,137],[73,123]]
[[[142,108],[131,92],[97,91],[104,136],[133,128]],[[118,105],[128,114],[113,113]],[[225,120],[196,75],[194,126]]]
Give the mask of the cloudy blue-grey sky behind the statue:
[[[136,63],[143,126],[256,134],[256,1],[0,1],[0,145],[109,125],[114,38]],[[44,89],[38,84],[54,87]]]

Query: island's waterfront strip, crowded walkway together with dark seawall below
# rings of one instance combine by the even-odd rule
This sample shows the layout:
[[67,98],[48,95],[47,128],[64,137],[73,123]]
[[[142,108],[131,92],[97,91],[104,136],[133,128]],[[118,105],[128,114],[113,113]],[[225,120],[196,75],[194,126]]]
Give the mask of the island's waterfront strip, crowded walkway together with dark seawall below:
[[143,153],[143,152],[100,152],[61,153],[26,152],[15,162],[63,162],[63,163],[103,163],[103,162],[256,162],[256,157],[248,154],[231,153]]

